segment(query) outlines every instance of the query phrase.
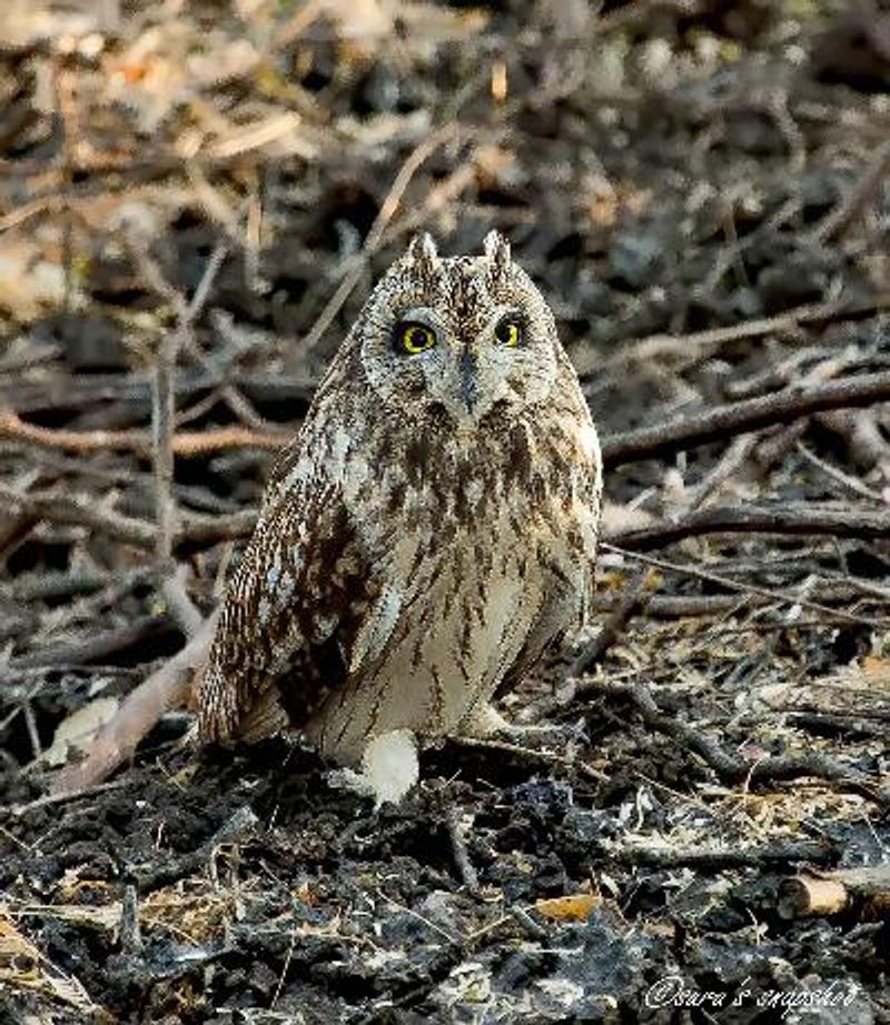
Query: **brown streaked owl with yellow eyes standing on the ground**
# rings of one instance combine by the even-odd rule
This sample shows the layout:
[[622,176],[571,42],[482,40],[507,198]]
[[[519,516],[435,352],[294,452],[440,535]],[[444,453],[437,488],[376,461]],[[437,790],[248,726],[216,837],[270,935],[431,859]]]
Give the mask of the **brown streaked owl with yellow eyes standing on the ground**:
[[[367,768],[382,737],[505,725],[492,698],[584,620],[600,492],[587,405],[508,243],[444,258],[415,238],[273,470],[200,736],[289,726]],[[416,773],[387,788],[388,764],[374,787],[398,796]]]

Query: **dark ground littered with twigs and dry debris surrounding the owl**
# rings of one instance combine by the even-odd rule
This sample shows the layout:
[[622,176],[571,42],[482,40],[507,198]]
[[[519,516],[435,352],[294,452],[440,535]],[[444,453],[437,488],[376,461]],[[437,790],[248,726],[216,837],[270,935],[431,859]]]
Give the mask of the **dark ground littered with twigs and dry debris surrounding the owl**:
[[[888,902],[788,900],[890,844],[890,420],[805,405],[890,362],[890,13],[119,7],[0,40],[0,1019],[890,1022]],[[505,703],[562,739],[448,742],[375,812],[293,740],[196,752],[170,709],[48,796],[185,641],[159,344],[207,615],[419,227],[510,236],[612,445],[590,634]],[[666,441],[619,456],[637,427]]]

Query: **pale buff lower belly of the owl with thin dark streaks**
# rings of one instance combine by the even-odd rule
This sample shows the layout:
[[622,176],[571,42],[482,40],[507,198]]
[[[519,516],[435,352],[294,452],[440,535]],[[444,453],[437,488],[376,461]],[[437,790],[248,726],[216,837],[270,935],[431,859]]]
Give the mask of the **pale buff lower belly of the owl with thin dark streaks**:
[[357,763],[370,736],[459,732],[490,700],[530,634],[543,628],[552,636],[580,613],[589,569],[575,561],[570,573],[577,579],[566,586],[523,541],[504,540],[487,566],[472,557],[472,546],[425,566],[379,660],[332,697],[308,725],[308,739]]

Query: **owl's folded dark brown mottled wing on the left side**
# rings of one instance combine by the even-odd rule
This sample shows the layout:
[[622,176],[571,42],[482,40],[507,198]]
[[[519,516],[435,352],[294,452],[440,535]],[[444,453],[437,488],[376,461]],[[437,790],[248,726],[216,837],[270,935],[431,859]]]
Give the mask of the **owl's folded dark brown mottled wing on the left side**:
[[[274,480],[294,455],[283,456]],[[270,487],[199,685],[201,739],[304,726],[345,679],[343,653],[369,587],[339,489],[324,469]]]

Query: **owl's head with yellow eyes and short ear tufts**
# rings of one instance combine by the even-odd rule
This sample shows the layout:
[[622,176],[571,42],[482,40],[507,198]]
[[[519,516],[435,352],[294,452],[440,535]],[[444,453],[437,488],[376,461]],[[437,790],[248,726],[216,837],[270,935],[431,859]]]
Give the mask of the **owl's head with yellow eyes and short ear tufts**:
[[441,257],[424,233],[374,290],[354,330],[382,404],[473,429],[545,400],[560,344],[553,315],[496,231],[477,257]]

